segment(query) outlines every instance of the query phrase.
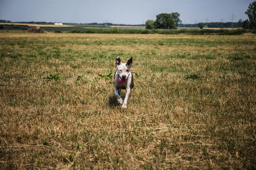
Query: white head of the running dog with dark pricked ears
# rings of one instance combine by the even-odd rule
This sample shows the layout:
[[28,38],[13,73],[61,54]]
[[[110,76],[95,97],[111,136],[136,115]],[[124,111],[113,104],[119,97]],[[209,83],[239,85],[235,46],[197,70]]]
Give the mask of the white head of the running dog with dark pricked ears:
[[116,67],[117,67],[117,74],[122,81],[126,81],[129,74],[131,73],[130,69],[132,66],[132,57],[127,61],[127,63],[122,63],[119,56],[116,57]]

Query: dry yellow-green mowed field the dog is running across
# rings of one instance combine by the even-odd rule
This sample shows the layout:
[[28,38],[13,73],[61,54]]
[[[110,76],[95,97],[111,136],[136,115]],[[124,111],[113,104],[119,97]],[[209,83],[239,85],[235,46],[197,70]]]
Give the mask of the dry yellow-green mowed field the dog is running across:
[[[2,32],[0,44],[0,169],[256,168],[255,34]],[[118,55],[133,57],[127,110]]]

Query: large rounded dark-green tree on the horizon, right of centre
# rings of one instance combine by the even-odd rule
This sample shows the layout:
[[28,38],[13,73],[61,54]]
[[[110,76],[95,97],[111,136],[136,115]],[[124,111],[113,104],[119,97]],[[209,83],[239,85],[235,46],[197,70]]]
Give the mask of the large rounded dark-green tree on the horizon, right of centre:
[[174,29],[176,28],[175,21],[170,13],[160,13],[156,16],[154,23],[156,29]]

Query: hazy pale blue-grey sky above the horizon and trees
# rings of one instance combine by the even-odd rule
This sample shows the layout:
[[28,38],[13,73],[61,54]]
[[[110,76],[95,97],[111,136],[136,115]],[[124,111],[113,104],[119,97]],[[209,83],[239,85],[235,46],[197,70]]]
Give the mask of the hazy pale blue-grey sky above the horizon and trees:
[[0,0],[0,19],[12,22],[145,24],[159,13],[180,13],[183,24],[237,22],[255,0]]

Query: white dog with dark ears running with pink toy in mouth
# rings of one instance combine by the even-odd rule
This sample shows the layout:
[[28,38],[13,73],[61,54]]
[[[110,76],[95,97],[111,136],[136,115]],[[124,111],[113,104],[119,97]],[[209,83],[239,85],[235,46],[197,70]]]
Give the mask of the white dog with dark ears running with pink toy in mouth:
[[[131,96],[131,89],[133,88],[131,66],[132,57],[127,61],[127,63],[122,63],[119,56],[116,57],[117,70],[114,76],[114,90],[118,104],[120,104],[124,109],[127,108],[127,101]],[[124,101],[122,99],[121,89],[126,90]]]

